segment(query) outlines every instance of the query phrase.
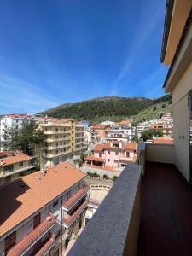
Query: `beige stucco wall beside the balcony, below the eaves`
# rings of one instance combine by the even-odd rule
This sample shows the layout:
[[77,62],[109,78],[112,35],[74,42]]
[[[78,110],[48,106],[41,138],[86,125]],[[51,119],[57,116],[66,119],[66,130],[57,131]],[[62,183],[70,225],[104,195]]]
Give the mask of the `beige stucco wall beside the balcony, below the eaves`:
[[[192,64],[172,91],[175,165],[189,182],[189,107],[188,94],[192,90]],[[179,138],[184,137],[184,138]]]

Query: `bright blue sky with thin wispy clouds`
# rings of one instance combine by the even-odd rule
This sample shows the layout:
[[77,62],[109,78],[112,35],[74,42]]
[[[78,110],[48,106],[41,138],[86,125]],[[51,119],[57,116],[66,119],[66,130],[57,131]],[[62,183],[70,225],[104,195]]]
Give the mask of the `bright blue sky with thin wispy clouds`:
[[162,96],[165,9],[166,0],[2,1],[0,113]]

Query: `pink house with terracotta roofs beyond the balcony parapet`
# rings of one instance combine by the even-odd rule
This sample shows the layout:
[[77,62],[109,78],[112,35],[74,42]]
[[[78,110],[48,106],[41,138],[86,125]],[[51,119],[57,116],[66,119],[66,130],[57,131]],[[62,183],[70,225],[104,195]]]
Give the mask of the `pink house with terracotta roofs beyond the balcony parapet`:
[[112,141],[97,144],[93,154],[86,158],[86,163],[91,166],[126,166],[135,163],[137,159],[137,143],[125,143],[123,141]]

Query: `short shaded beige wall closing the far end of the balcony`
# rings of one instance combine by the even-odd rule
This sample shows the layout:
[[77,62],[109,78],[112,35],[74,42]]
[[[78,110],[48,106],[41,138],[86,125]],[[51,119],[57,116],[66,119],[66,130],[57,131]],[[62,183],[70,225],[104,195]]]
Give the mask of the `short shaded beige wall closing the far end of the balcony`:
[[146,143],[147,161],[174,164],[174,144]]

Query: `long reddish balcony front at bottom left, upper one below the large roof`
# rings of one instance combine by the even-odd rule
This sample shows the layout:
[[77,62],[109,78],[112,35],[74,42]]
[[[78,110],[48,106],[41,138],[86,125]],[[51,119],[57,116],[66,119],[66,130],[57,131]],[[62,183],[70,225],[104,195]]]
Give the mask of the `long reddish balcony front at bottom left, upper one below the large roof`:
[[55,217],[49,216],[37,228],[32,230],[19,243],[12,247],[7,256],[24,255],[44,234],[46,234],[55,225]]

